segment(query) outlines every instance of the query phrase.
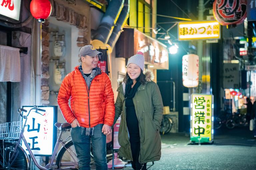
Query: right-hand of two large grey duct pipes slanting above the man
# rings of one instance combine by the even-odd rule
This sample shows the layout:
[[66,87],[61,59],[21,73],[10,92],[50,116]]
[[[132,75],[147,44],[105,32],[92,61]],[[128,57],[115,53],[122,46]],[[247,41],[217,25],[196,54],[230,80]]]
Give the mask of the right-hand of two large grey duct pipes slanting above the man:
[[113,49],[115,46],[122,30],[123,30],[123,25],[124,22],[126,22],[126,19],[129,16],[129,11],[130,11],[130,0],[124,0],[124,7],[120,13],[120,16],[117,19],[116,26],[113,29],[113,32],[108,40],[107,45]]

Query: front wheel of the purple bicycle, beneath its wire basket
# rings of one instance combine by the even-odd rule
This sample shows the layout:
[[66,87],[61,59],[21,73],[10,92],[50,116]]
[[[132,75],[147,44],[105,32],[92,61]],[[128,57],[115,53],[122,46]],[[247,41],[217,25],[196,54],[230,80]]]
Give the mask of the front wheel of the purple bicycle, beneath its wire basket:
[[0,145],[0,169],[29,170],[28,155],[20,145],[15,152],[15,143],[13,142],[4,141],[3,143],[0,142]]

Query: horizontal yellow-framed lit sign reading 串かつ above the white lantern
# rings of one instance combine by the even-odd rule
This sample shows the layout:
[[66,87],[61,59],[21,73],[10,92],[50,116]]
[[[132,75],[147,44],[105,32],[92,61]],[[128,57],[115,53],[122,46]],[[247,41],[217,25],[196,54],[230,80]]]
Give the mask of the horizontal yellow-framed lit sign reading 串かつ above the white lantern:
[[220,38],[220,24],[217,21],[180,22],[178,28],[178,40]]

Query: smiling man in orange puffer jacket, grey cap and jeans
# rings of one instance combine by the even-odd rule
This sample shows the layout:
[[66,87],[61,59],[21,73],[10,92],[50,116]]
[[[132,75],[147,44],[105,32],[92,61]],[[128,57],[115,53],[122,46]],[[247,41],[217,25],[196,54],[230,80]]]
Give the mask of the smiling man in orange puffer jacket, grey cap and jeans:
[[79,170],[90,170],[90,144],[96,170],[107,170],[106,135],[111,134],[115,117],[114,93],[108,75],[97,67],[102,52],[85,45],[79,55],[82,64],[62,81],[58,105],[72,126]]

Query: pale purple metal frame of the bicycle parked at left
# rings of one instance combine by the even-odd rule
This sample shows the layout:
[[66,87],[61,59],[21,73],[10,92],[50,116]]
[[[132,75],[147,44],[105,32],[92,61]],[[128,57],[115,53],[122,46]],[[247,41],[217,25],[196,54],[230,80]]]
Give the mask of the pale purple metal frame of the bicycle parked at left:
[[[34,109],[34,108],[33,108],[33,109]],[[32,109],[31,109],[31,110],[32,110]],[[31,111],[31,110],[30,110],[30,111]],[[30,113],[30,111],[29,111],[29,113]],[[29,113],[28,113],[28,115],[29,115]],[[27,115],[27,116],[28,116],[28,115]],[[56,156],[56,153],[57,153],[57,149],[58,149],[58,147],[59,147],[59,144],[61,143],[63,146],[65,146],[65,142],[70,139],[70,136],[69,136],[67,139],[65,139],[64,142],[63,142],[62,139],[61,139],[61,135],[62,135],[63,130],[60,131],[59,137],[58,137],[58,139],[57,139],[57,142],[56,142],[55,147],[54,147],[54,150],[53,150],[53,154],[52,154],[50,163],[47,164],[45,167],[43,167],[43,166],[39,165],[38,162],[36,161],[35,155],[33,154],[32,150],[30,149],[30,146],[29,146],[29,144],[28,144],[28,142],[27,142],[27,140],[26,140],[26,138],[25,138],[25,136],[23,135],[24,129],[25,129],[25,126],[26,126],[26,122],[27,122],[27,116],[22,116],[22,117],[23,117],[24,119],[26,119],[26,120],[25,120],[24,126],[23,126],[23,128],[22,128],[22,130],[21,130],[19,140],[16,142],[16,145],[15,145],[15,148],[14,148],[14,152],[13,152],[13,154],[11,155],[9,161],[7,162],[7,165],[8,165],[8,164],[11,165],[11,164],[12,164],[12,161],[11,161],[11,160],[14,161],[14,160],[17,158],[18,152],[16,152],[16,149],[17,149],[18,145],[21,143],[21,140],[23,140],[24,143],[25,143],[26,148],[28,149],[28,152],[29,152],[29,154],[30,154],[30,157],[31,157],[31,159],[33,160],[33,162],[35,163],[36,167],[38,167],[40,170],[47,170],[47,169],[50,169],[50,168],[51,168],[51,169],[54,169],[54,170],[60,170],[60,169],[58,169],[58,168],[56,167],[56,165],[55,165],[55,163],[54,163],[53,161],[54,161],[54,158],[55,158],[55,156]],[[23,149],[23,150],[24,150],[24,149]],[[25,150],[24,150],[24,152],[25,152]],[[26,153],[26,152],[25,152],[25,153]],[[71,156],[72,156],[72,155],[71,155]],[[14,158],[14,159],[13,159],[13,158]],[[74,159],[73,156],[72,156],[72,158]],[[74,160],[75,160],[75,159],[74,159]],[[28,162],[29,162],[29,160],[28,160]],[[74,168],[74,169],[76,168],[74,164],[69,163],[69,162],[66,162],[66,163],[63,163],[63,164],[64,164],[65,166],[70,166],[71,168]],[[61,170],[63,170],[63,169],[70,169],[70,168],[62,168]]]

